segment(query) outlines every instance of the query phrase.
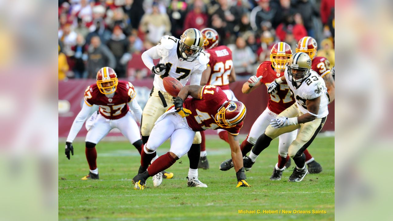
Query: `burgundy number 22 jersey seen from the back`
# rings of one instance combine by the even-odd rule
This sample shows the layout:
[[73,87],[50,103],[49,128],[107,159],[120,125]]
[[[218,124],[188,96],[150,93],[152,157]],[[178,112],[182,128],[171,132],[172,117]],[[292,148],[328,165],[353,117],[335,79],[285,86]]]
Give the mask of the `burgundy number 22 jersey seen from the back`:
[[232,52],[225,46],[218,46],[209,50],[209,66],[211,68],[206,85],[220,86],[222,90],[229,90],[229,76],[233,68]]

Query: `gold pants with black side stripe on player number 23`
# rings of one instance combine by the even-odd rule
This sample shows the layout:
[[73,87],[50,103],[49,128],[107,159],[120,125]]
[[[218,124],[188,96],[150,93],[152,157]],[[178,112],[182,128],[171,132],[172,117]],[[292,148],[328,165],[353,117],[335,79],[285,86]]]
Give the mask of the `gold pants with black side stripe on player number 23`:
[[[301,112],[298,109],[296,103],[294,103],[292,106],[288,107],[283,112],[281,112],[277,117],[292,118],[292,117],[299,117],[301,115],[303,115],[303,112]],[[295,157],[296,154],[299,155],[303,153],[303,151],[311,144],[312,140],[314,140],[316,135],[321,131],[323,124],[325,123],[325,120],[326,117],[317,118],[307,123],[300,123],[300,124],[290,125],[280,128],[274,128],[271,125],[269,125],[266,128],[265,134],[266,136],[274,139],[281,134],[299,129],[296,139],[288,147],[288,155],[293,158]],[[299,152],[300,149],[301,151]]]

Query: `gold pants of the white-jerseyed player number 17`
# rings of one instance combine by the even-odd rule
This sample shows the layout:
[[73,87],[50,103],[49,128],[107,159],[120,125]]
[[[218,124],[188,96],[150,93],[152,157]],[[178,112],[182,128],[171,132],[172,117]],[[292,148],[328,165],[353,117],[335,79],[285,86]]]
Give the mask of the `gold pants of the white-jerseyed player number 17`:
[[[166,102],[164,107],[163,102],[158,95],[158,89],[153,88],[153,92],[150,98],[147,100],[146,106],[142,112],[142,123],[141,123],[141,134],[142,136],[150,136],[151,130],[154,127],[154,123],[157,119],[173,105],[173,98],[167,92],[161,91],[163,99]],[[165,130],[165,128],[163,128]],[[202,142],[202,137],[200,132],[195,133],[193,144],[200,144]]]

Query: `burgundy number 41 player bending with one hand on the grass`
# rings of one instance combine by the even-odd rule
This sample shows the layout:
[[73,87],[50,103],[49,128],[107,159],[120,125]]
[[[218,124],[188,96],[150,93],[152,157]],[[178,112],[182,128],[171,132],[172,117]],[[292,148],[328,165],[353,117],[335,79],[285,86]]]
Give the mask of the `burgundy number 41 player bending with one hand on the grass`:
[[[192,98],[187,98],[191,96]],[[183,87],[174,105],[168,109],[160,118],[151,132],[145,148],[141,155],[141,167],[147,168],[153,153],[168,138],[171,138],[171,149],[165,155],[156,159],[147,171],[136,175],[132,182],[135,190],[143,190],[148,177],[169,168],[189,151],[196,131],[206,129],[224,129],[228,133],[231,156],[236,171],[237,186],[250,185],[246,182],[244,174],[242,154],[239,146],[237,134],[243,125],[246,117],[246,107],[240,101],[228,100],[226,94],[220,87],[214,85],[187,85]],[[165,127],[165,130],[162,128]],[[199,156],[199,155],[198,155]],[[207,187],[191,174],[187,177],[187,186]]]

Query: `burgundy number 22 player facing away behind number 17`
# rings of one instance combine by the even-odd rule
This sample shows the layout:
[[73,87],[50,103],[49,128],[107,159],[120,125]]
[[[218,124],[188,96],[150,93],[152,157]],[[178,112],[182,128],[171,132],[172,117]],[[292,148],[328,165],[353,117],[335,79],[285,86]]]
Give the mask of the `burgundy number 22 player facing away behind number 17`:
[[[232,52],[224,45],[218,46],[220,41],[219,33],[212,28],[201,30],[204,38],[204,50],[209,56],[209,64],[202,73],[200,85],[219,86],[231,101],[237,101],[235,94],[229,88],[229,84],[236,81],[235,69],[233,68]],[[217,129],[220,138],[227,143],[228,133],[222,129]],[[206,157],[205,133],[200,132],[202,143],[200,149],[199,168],[209,169],[209,162]]]

